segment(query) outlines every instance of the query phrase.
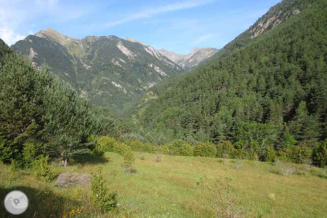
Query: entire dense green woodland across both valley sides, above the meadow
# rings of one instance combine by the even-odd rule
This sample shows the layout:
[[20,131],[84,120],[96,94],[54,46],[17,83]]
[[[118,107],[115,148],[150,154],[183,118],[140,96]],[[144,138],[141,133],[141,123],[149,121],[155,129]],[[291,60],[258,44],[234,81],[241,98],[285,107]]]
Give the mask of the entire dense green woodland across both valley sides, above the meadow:
[[[253,37],[270,13],[275,23]],[[326,167],[327,1],[285,0],[267,16],[120,118],[1,41],[0,161],[25,167],[43,154],[67,166],[76,153],[132,148]]]

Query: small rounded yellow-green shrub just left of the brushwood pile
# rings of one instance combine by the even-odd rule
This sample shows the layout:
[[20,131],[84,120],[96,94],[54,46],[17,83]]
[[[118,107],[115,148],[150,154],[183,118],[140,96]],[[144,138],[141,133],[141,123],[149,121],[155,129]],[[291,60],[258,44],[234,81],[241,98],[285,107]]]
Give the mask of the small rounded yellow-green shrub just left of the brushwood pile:
[[49,156],[40,155],[33,163],[33,170],[34,176],[40,181],[50,182],[54,179]]

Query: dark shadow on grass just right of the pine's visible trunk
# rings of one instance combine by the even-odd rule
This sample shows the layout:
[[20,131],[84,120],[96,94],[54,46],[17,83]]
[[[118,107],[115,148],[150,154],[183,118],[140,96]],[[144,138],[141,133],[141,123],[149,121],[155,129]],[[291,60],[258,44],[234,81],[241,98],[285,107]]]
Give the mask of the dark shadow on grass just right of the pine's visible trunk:
[[69,165],[96,165],[96,164],[106,164],[108,162],[111,162],[109,158],[105,157],[97,157],[93,154],[86,153],[86,154],[76,154],[73,156],[71,160],[69,160]]

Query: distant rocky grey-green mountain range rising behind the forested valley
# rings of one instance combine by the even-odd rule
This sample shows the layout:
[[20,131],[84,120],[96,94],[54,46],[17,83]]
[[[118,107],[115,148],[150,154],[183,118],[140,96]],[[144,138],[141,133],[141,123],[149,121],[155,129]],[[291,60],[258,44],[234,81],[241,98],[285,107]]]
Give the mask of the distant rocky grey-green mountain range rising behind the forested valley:
[[218,52],[195,48],[188,55],[151,46],[132,38],[87,36],[74,39],[53,28],[28,35],[11,46],[35,66],[46,63],[91,103],[122,110],[163,79],[188,71]]

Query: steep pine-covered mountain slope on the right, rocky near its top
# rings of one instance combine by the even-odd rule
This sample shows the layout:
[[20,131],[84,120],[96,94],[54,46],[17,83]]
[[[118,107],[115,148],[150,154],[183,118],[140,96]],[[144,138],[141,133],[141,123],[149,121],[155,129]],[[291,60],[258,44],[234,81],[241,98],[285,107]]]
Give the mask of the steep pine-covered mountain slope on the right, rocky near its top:
[[241,123],[269,122],[313,145],[326,134],[326,8],[326,0],[282,1],[177,84],[151,88],[134,119],[190,141],[221,141]]

